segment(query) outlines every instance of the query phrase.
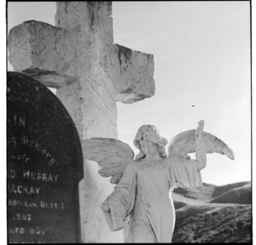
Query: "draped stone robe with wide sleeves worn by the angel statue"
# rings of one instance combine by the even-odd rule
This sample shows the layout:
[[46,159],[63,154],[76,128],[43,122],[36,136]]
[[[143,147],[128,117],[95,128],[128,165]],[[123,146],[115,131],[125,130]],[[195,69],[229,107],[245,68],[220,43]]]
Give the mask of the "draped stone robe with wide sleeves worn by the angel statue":
[[169,191],[201,186],[197,164],[177,158],[129,163],[105,201],[110,207],[104,212],[109,229],[124,228],[123,242],[171,242],[175,209]]

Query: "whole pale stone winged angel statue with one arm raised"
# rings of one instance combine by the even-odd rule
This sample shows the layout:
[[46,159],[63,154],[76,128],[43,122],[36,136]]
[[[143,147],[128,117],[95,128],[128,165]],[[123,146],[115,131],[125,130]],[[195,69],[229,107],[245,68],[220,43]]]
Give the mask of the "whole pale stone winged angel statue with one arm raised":
[[[113,139],[93,138],[83,141],[84,156],[98,162],[99,174],[110,177],[114,191],[102,203],[111,231],[122,231],[122,242],[171,242],[175,225],[172,201],[174,188],[202,185],[201,169],[207,153],[218,152],[235,159],[222,140],[203,132],[204,121],[193,130],[177,134],[167,145],[158,128],[143,125],[134,145],[136,159],[129,145]],[[188,153],[195,152],[195,160]]]

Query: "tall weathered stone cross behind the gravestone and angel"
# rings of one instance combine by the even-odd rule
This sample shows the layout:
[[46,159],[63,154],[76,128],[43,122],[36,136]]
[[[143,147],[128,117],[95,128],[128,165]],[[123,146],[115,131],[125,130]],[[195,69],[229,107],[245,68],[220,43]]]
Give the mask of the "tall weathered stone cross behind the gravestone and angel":
[[[80,140],[117,138],[116,102],[154,95],[154,57],[113,44],[111,2],[56,2],[55,26],[29,20],[9,31],[9,61],[15,71],[56,88]],[[84,156],[86,158],[86,156]],[[108,230],[102,201],[113,185],[84,160],[79,183],[82,242],[120,242]]]

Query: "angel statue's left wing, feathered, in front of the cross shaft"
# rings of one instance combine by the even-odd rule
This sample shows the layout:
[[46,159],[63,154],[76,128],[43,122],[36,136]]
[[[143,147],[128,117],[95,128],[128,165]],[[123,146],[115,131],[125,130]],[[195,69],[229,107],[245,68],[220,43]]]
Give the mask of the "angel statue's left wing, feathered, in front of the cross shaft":
[[98,163],[101,169],[98,174],[108,178],[112,184],[119,183],[125,166],[134,159],[131,147],[120,140],[92,138],[82,140],[84,157]]

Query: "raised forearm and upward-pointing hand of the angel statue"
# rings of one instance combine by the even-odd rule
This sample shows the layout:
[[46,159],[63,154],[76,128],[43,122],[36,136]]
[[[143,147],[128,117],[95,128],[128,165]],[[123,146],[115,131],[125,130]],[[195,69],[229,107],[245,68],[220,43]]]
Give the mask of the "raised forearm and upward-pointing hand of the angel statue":
[[206,146],[205,143],[202,139],[202,131],[205,125],[204,120],[201,120],[198,123],[198,127],[195,130],[195,145],[196,145],[196,150],[195,150],[195,158],[196,161],[198,162],[198,170],[200,171],[203,168],[206,168],[207,166],[207,154],[206,154]]

